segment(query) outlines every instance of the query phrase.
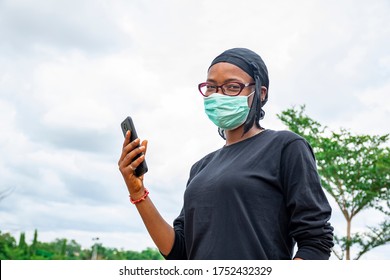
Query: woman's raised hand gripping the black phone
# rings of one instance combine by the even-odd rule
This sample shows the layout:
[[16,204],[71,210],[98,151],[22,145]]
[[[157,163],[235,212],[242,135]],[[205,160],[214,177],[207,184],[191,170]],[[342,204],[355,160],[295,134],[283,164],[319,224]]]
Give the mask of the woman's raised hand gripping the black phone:
[[[122,154],[118,161],[119,170],[122,173],[123,179],[131,198],[136,200],[143,196],[145,188],[143,184],[144,175],[137,177],[134,174],[135,169],[145,160],[148,141],[144,140],[140,144],[140,139],[137,138],[130,143],[131,132],[127,131],[123,142]],[[139,146],[139,147],[138,147]],[[134,158],[143,153],[139,158]]]

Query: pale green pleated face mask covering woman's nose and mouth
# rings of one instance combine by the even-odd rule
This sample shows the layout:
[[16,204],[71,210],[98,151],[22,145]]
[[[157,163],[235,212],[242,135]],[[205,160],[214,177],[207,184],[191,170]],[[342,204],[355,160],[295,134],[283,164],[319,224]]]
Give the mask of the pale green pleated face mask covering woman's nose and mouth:
[[242,125],[249,114],[248,96],[228,96],[219,93],[204,97],[204,110],[219,128],[232,130]]

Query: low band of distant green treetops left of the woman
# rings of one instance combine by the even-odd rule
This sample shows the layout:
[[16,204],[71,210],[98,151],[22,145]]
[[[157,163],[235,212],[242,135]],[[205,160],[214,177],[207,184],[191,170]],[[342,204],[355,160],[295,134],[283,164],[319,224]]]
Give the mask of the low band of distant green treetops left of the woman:
[[[99,260],[161,260],[163,257],[156,249],[147,248],[142,252],[106,248],[95,244]],[[75,240],[56,239],[53,242],[40,242],[38,231],[34,233],[31,245],[27,244],[25,233],[21,233],[19,242],[10,233],[0,231],[0,260],[90,260],[92,248],[83,249]]]

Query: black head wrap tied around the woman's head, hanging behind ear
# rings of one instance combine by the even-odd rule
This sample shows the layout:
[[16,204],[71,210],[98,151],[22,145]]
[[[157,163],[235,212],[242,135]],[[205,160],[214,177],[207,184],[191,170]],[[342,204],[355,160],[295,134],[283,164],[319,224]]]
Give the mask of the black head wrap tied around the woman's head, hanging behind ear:
[[[256,123],[257,127],[261,128],[260,120],[263,119],[265,115],[265,112],[262,107],[268,101],[269,87],[268,70],[267,66],[265,66],[264,61],[257,53],[249,49],[234,48],[226,50],[219,56],[217,56],[211,62],[210,67],[219,62],[228,62],[236,65],[237,67],[248,73],[255,81],[255,94],[251,108],[249,110],[248,117],[244,123],[244,133],[248,132],[252,128],[254,123]],[[265,86],[267,88],[267,94],[263,101],[261,101],[262,86]],[[223,138],[225,138],[223,130],[219,129],[219,133]]]

